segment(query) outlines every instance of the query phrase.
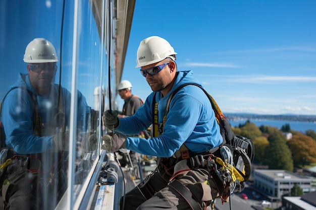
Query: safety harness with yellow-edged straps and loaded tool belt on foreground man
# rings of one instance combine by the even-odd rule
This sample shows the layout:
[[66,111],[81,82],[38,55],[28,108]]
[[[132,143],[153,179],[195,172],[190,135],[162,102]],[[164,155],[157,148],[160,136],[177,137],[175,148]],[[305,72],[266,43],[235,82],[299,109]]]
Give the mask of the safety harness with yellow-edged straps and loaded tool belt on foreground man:
[[[171,182],[169,186],[181,194],[191,208],[195,210],[202,209],[202,206],[196,201],[196,199],[192,198],[190,190],[174,178],[178,174],[194,168],[206,168],[209,171],[209,179],[205,182],[205,184],[211,186],[212,184],[210,182],[214,183],[215,186],[211,186],[211,188],[215,187],[217,189],[219,194],[216,198],[221,198],[222,202],[225,202],[234,190],[235,192],[243,190],[244,182],[248,180],[251,173],[251,162],[254,158],[254,147],[249,139],[234,134],[228,120],[214,98],[201,86],[193,83],[184,84],[171,93],[166,105],[166,111],[162,123],[159,123],[158,102],[155,101],[156,93],[154,93],[152,101],[153,136],[159,136],[164,132],[164,126],[171,100],[181,88],[187,85],[197,86],[206,94],[215,112],[216,119],[220,125],[221,134],[223,136],[223,143],[219,147],[205,151],[204,153],[193,153],[185,144],[183,144],[173,155],[173,158],[176,158],[177,162],[173,166],[173,174],[170,179]],[[248,155],[251,157],[251,160]],[[161,163],[163,162],[164,158],[162,158]],[[235,167],[235,165],[237,167]],[[168,168],[165,167],[165,169],[166,172],[168,172]],[[213,198],[213,200],[216,198]],[[207,204],[204,203],[203,206],[205,207],[206,205]],[[212,205],[214,207],[214,203],[212,203]]]

